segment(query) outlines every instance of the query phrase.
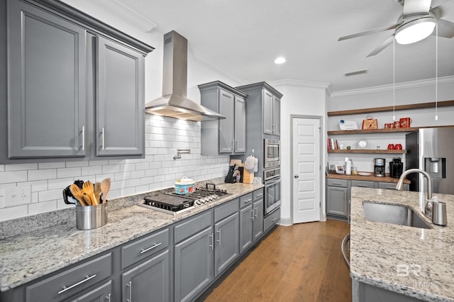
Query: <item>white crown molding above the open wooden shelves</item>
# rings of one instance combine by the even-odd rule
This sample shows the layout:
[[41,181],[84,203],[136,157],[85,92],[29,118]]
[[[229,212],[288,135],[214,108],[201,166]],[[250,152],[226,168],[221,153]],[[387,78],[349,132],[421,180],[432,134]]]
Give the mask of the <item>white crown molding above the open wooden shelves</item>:
[[[394,85],[394,88],[396,90],[401,90],[401,89],[411,89],[411,88],[421,87],[421,86],[433,86],[433,85],[435,85],[435,82],[436,82],[436,79],[421,79],[418,81],[397,83]],[[439,77],[437,79],[437,82],[438,82],[438,84],[454,83],[454,76]],[[383,91],[392,91],[392,89],[393,89],[393,84],[387,84],[387,85],[382,85],[382,86],[373,86],[373,87],[360,88],[360,89],[336,91],[336,92],[333,92],[330,95],[330,97],[331,97],[331,99],[334,99],[336,97],[341,97],[341,96],[353,96],[353,95],[357,95],[357,94],[372,94],[372,93],[383,92]]]

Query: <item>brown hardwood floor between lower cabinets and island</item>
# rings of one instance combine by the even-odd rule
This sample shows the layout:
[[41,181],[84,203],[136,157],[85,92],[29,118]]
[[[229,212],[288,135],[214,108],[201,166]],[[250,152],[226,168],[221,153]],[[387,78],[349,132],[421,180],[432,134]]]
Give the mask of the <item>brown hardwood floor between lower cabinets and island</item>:
[[352,301],[341,255],[347,223],[278,226],[205,301]]

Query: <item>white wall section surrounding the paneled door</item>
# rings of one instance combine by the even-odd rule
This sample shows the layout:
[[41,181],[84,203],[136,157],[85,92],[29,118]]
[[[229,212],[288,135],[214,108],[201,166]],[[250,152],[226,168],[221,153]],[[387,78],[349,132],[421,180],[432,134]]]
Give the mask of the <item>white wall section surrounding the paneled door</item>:
[[[279,92],[284,94],[281,100],[281,224],[292,223],[292,121],[290,116],[322,116],[321,125],[325,123],[326,115],[326,87],[327,84],[311,83],[302,81],[282,80],[270,82]],[[326,133],[326,131],[322,131]],[[325,141],[323,134],[323,142]],[[322,147],[323,150],[324,147]],[[323,152],[324,153],[324,152]],[[324,162],[324,158],[322,159]],[[323,178],[324,180],[324,178]],[[324,181],[321,184],[322,201],[325,200],[323,189]],[[324,204],[324,202],[322,202]]]

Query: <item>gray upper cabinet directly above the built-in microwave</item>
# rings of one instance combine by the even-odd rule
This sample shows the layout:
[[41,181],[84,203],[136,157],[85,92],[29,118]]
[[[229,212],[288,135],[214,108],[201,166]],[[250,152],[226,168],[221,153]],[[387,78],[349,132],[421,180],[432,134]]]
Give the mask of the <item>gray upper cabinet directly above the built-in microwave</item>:
[[263,134],[279,136],[282,94],[266,82],[239,86],[236,89],[248,94],[248,108],[250,103],[253,104],[250,108],[255,110],[248,113],[248,118],[257,123],[260,121]]

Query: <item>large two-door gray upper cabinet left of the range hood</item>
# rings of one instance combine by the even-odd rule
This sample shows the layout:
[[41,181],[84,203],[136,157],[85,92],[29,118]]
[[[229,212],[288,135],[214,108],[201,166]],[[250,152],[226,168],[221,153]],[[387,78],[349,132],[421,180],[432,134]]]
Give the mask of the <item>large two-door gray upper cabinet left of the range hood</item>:
[[1,163],[143,157],[153,47],[51,0],[1,1],[0,40]]

